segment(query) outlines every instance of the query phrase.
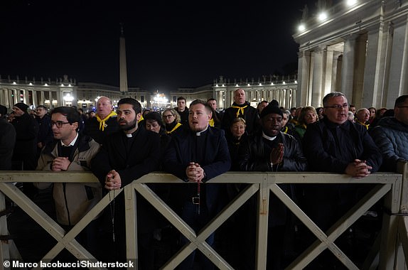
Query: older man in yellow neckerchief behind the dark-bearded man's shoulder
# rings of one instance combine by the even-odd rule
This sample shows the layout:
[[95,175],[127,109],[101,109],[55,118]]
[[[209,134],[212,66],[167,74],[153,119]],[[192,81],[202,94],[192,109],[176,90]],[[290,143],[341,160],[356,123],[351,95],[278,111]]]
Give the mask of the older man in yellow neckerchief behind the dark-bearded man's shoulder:
[[100,97],[97,101],[95,117],[91,117],[85,122],[85,134],[91,136],[99,144],[102,144],[106,136],[119,130],[117,114],[113,109],[111,99]]

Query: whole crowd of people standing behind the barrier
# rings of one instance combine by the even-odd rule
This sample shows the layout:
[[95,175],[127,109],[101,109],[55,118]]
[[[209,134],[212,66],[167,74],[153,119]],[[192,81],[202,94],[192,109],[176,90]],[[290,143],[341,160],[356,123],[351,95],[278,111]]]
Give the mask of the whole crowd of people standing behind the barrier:
[[[149,186],[198,232],[245,189],[234,183],[202,184],[227,171],[317,171],[363,178],[377,171],[395,172],[398,161],[408,160],[408,95],[398,97],[393,109],[356,110],[341,92],[326,95],[319,108],[285,109],[276,100],[254,108],[242,89],[235,90],[234,103],[222,112],[215,99],[196,99],[186,107],[186,99],[179,97],[177,104],[161,114],[145,110],[142,115],[136,99],[120,99],[115,110],[109,98],[100,97],[95,117],[89,118],[75,107],[48,112],[40,105],[32,116],[24,103],[14,104],[11,114],[0,106],[0,169],[92,171],[100,185],[52,185],[57,221],[72,228],[109,193],[109,207],[77,240],[98,259],[124,261],[124,195],[115,190],[153,171],[190,183]],[[33,198],[37,188],[49,186],[24,183],[21,188]],[[279,187],[323,231],[367,193],[366,185]],[[254,248],[248,247],[254,247],[256,206],[256,198],[251,198],[232,217],[230,237],[211,234],[206,240],[216,246],[217,239],[237,241],[233,239],[240,235],[242,243],[237,242],[237,254],[231,258],[236,269],[254,269]],[[267,269],[283,269],[296,221],[274,195],[269,211]],[[138,199],[137,215],[139,266],[153,269],[155,236],[169,224],[143,198]],[[311,242],[313,237],[305,232],[295,244]],[[188,243],[183,235],[173,241],[175,247]],[[193,252],[179,269],[214,269],[201,255]],[[330,269],[331,263],[322,256],[313,267]]]

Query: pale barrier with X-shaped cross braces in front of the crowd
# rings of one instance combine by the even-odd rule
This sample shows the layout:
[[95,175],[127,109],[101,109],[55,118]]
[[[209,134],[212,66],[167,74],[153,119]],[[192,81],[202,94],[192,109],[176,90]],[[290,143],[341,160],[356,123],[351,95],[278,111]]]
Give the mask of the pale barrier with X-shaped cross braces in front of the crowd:
[[[401,173],[374,173],[365,178],[350,178],[348,175],[333,173],[249,173],[229,172],[213,178],[205,185],[219,183],[247,183],[247,188],[237,195],[210,223],[200,232],[194,232],[181,217],[176,215],[171,207],[168,207],[161,198],[156,195],[147,184],[149,183],[173,183],[186,184],[182,180],[167,173],[150,173],[139,180],[127,185],[121,190],[124,192],[126,232],[127,232],[127,258],[137,261],[137,234],[136,234],[136,193],[142,195],[151,205],[154,205],[166,219],[176,227],[181,234],[190,240],[179,250],[162,269],[174,269],[195,249],[200,250],[219,269],[233,269],[205,239],[222,225],[234,212],[236,212],[255,193],[259,193],[257,211],[257,257],[256,269],[266,269],[267,258],[267,232],[269,195],[274,193],[291,212],[303,222],[316,236],[317,240],[311,244],[304,253],[295,259],[287,269],[303,269],[313,261],[323,250],[329,249],[348,269],[358,269],[345,253],[335,244],[340,234],[345,232],[350,225],[358,220],[378,200],[385,198],[385,207],[389,215],[384,215],[382,221],[382,232],[377,237],[375,245],[365,259],[362,269],[404,269],[408,259],[408,220],[405,215],[408,212],[408,163],[400,163]],[[58,225],[51,217],[45,214],[40,207],[16,188],[13,182],[70,182],[70,183],[92,183],[97,181],[90,172],[44,172],[44,171],[3,171],[0,173],[0,211],[4,210],[4,195],[12,200],[18,207],[26,212],[33,220],[38,222],[54,239],[57,240],[55,247],[51,249],[41,261],[50,261],[63,249],[68,249],[79,260],[95,259],[76,240],[75,237],[84,229],[109,204],[109,195],[102,200],[80,220],[69,232]],[[347,184],[375,184],[364,198],[350,209],[338,222],[328,231],[323,232],[316,224],[299,208],[296,203],[284,193],[277,184],[279,183],[347,183]],[[0,217],[0,233],[7,235],[6,216]],[[1,241],[0,259],[5,261],[13,259],[10,257],[12,242]],[[1,264],[0,269],[4,267]],[[137,268],[137,266],[136,266]],[[41,269],[38,266],[36,269]],[[96,267],[95,269],[104,269]]]

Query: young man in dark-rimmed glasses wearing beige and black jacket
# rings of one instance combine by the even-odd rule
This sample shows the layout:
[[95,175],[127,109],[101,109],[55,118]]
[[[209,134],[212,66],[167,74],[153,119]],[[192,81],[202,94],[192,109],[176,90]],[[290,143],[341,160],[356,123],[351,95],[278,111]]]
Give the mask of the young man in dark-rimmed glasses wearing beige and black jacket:
[[[54,140],[45,145],[38,159],[37,171],[89,171],[90,161],[100,144],[90,136],[78,133],[80,114],[73,107],[57,107],[51,111]],[[40,189],[51,183],[36,183]],[[54,183],[53,198],[57,221],[71,229],[102,198],[100,183]],[[78,234],[77,240],[95,254],[97,251],[97,218]]]

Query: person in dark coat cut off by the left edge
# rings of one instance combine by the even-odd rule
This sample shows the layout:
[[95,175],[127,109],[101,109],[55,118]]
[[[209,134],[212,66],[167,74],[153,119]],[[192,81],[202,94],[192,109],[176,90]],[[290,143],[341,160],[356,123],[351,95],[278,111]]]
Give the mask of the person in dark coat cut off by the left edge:
[[11,171],[16,130],[6,119],[7,108],[0,105],[0,171]]

